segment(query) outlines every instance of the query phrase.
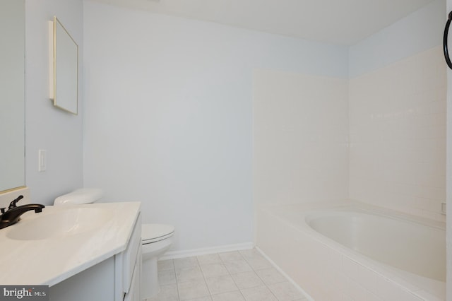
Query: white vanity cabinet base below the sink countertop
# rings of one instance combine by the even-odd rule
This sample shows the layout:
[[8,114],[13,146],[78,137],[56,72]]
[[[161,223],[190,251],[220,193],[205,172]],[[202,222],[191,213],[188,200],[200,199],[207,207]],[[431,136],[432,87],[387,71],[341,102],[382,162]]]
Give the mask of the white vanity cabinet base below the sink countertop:
[[50,301],[141,301],[141,215],[123,252],[49,288]]

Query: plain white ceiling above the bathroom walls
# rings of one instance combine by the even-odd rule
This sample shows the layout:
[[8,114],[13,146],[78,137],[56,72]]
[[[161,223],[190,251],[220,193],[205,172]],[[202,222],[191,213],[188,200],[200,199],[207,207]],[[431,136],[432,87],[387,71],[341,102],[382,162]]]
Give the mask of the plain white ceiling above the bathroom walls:
[[434,0],[94,0],[239,28],[354,45]]

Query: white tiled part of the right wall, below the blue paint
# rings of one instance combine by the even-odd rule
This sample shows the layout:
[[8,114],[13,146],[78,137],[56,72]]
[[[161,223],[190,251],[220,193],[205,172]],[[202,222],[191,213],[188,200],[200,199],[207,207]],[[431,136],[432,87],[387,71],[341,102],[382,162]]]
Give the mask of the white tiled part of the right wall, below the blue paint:
[[350,199],[446,221],[441,47],[350,80]]

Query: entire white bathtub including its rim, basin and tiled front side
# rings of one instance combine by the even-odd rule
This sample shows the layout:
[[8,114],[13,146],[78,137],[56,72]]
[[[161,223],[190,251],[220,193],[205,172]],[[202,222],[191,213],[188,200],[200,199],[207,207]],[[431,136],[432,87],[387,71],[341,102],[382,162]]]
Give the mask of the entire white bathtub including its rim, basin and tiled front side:
[[263,206],[256,247],[312,300],[446,300],[444,223],[353,201]]

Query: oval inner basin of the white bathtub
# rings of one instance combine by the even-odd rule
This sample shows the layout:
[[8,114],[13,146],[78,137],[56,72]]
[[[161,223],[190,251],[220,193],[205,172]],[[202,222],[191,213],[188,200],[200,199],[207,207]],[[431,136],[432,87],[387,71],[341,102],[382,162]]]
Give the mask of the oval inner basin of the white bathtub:
[[446,281],[444,229],[357,211],[311,213],[306,220],[317,232],[370,259]]

